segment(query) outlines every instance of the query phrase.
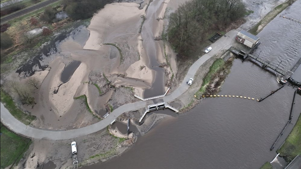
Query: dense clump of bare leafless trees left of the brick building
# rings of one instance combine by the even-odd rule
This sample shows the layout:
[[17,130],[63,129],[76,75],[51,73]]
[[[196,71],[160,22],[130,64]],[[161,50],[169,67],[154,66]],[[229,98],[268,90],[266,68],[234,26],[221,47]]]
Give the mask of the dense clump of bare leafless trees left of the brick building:
[[168,41],[180,56],[193,50],[211,30],[225,28],[245,14],[241,0],[191,0],[170,14]]

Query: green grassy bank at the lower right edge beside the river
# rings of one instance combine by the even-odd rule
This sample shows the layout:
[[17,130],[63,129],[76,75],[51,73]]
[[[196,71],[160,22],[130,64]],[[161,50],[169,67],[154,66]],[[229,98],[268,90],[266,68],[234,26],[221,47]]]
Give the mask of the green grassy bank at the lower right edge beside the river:
[[284,156],[286,161],[292,161],[296,155],[301,154],[301,114],[293,130],[277,152]]

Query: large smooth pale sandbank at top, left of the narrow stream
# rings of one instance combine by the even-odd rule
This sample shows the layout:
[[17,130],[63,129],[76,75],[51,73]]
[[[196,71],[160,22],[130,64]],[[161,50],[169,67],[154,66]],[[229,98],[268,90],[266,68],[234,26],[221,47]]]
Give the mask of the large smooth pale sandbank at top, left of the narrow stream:
[[92,18],[84,49],[99,50],[103,43],[112,43],[125,34],[137,34],[140,16],[144,14],[138,7],[136,3],[107,4]]

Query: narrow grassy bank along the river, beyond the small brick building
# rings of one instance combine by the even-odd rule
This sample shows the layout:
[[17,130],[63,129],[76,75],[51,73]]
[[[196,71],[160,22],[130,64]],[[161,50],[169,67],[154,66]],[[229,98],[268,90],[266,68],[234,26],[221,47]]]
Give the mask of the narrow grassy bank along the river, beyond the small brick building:
[[289,0],[287,2],[284,2],[283,4],[278,5],[275,9],[266,14],[265,17],[248,32],[257,35],[269,22],[271,22],[278,14],[280,14],[285,8],[290,6],[295,1],[296,0]]

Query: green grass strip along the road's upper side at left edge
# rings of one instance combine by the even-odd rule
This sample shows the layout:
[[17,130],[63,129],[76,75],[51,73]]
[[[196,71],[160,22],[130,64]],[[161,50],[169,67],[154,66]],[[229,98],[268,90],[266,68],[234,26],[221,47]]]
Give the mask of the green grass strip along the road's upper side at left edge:
[[7,110],[13,115],[16,119],[18,119],[20,122],[23,122],[25,125],[29,125],[33,120],[36,120],[36,116],[32,116],[30,114],[24,113],[22,110],[20,110],[16,104],[14,103],[13,98],[5,93],[3,89],[0,90],[1,94],[1,102],[4,104],[4,106],[7,108]]

